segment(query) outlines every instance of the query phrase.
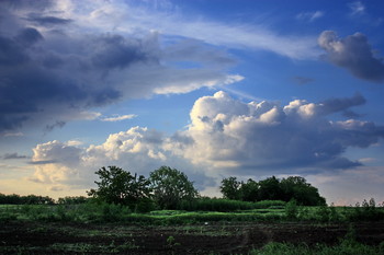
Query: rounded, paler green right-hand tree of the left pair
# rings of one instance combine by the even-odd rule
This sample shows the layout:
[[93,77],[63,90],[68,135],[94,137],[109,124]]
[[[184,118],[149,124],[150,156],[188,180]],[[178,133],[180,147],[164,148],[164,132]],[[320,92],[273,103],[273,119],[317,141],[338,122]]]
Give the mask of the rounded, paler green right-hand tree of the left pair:
[[192,200],[199,194],[184,173],[169,166],[155,170],[149,179],[154,200],[161,209],[176,209],[181,200]]

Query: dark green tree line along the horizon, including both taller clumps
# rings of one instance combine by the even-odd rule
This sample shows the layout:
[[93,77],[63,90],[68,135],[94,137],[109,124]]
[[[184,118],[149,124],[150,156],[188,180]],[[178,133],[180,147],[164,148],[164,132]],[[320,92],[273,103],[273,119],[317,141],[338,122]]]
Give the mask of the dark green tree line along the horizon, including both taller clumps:
[[[89,198],[65,197],[56,204],[83,204],[88,200],[97,202],[127,206],[138,211],[151,209],[178,209],[197,201],[202,198],[188,176],[176,169],[161,166],[153,171],[149,177],[132,174],[118,166],[103,166],[95,172],[99,179],[94,183],[97,188],[87,192]],[[326,200],[318,194],[318,189],[300,176],[290,176],[279,179],[275,176],[259,182],[248,179],[237,181],[228,177],[222,181],[219,187],[223,197],[238,201],[263,201],[294,199],[304,206],[326,205]],[[204,201],[204,200],[202,200]],[[218,204],[219,201],[215,201]],[[53,205],[55,200],[43,196],[19,196],[0,194],[0,204],[27,204],[27,205]]]

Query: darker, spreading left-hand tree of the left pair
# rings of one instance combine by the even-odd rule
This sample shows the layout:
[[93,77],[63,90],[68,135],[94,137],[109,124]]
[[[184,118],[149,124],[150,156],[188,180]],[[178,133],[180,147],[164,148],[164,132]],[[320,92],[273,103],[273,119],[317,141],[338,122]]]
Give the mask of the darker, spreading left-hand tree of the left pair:
[[108,204],[118,204],[132,206],[143,199],[150,197],[150,182],[143,175],[132,175],[117,166],[104,166],[98,172],[100,182],[94,182],[98,189],[87,192],[88,196],[92,196]]

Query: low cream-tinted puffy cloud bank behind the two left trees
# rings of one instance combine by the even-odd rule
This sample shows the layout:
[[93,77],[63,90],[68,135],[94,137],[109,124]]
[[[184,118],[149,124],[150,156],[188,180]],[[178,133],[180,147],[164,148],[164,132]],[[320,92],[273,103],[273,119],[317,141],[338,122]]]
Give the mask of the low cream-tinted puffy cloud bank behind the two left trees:
[[30,181],[50,186],[89,188],[97,177],[94,172],[103,165],[118,165],[146,176],[161,165],[171,165],[197,181],[200,188],[213,184],[210,177],[195,171],[195,166],[185,159],[166,150],[165,139],[156,130],[133,127],[127,131],[111,134],[103,143],[88,148],[59,141],[37,144],[33,149],[35,173]]

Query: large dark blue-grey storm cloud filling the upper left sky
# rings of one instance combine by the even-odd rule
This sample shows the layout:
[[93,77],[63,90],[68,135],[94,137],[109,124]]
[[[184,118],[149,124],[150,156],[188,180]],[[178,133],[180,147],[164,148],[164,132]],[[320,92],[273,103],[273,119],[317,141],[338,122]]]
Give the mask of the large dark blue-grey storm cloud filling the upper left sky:
[[115,102],[122,92],[116,81],[109,81],[109,72],[154,59],[138,39],[113,34],[72,37],[65,31],[42,33],[31,24],[63,27],[70,21],[37,14],[24,19],[13,13],[20,9],[37,11],[43,4],[32,2],[0,3],[4,8],[0,16],[8,22],[0,25],[0,131],[48,115],[54,124],[46,125],[46,130],[52,130],[64,123],[61,114]]

